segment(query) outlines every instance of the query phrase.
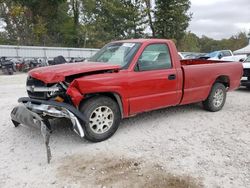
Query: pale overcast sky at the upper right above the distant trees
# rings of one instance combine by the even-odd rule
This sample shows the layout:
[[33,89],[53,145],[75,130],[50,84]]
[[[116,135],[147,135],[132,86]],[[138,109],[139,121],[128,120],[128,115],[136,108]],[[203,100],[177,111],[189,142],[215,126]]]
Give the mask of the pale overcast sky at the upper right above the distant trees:
[[188,30],[198,36],[229,38],[250,30],[250,0],[191,0]]

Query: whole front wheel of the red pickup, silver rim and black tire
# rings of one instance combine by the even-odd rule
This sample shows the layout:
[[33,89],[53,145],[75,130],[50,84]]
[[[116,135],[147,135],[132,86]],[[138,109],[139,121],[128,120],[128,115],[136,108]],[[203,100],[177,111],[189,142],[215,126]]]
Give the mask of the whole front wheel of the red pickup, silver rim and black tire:
[[88,99],[80,111],[88,120],[85,124],[85,138],[92,142],[101,142],[111,137],[121,121],[118,104],[105,96]]

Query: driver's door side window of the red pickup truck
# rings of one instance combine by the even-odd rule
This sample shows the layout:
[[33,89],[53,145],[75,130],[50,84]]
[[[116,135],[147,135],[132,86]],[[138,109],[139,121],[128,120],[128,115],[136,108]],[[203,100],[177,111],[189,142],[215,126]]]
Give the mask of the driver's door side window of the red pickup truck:
[[171,67],[169,49],[165,44],[147,46],[137,62],[137,71],[169,69]]

